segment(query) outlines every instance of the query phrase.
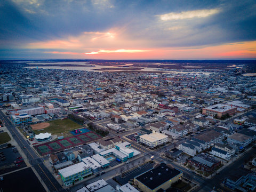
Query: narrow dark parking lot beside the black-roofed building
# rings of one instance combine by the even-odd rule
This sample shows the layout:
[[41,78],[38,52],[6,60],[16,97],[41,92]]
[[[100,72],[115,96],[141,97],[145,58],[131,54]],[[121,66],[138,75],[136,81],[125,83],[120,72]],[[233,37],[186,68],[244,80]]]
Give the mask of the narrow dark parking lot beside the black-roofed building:
[[[153,168],[154,163],[146,163],[141,166],[136,167],[135,169],[132,169],[129,172],[126,172],[124,174],[118,175],[117,177],[114,177],[114,179],[120,184],[125,185],[125,183],[129,182],[131,179],[136,177],[137,175],[144,173],[150,169]],[[122,176],[122,177],[121,177]]]

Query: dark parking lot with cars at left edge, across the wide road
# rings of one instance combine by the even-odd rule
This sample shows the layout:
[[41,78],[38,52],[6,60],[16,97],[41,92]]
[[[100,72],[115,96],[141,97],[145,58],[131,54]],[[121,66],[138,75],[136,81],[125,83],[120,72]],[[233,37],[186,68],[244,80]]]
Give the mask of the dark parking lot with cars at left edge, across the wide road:
[[[0,149],[0,157],[2,157],[0,158],[0,174],[27,166],[19,151],[13,147]],[[14,164],[14,161],[19,162],[17,166]]]

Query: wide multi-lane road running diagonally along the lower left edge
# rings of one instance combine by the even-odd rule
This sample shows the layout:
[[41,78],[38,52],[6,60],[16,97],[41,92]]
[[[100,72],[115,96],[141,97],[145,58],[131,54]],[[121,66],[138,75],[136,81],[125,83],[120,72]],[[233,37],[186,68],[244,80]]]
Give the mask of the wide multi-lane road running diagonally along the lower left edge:
[[[17,141],[23,153],[27,156],[31,166],[34,166],[36,172],[40,175],[41,181],[44,181],[45,185],[50,191],[58,191],[62,189],[59,182],[53,177],[51,172],[43,164],[43,159],[38,157],[35,151],[28,145],[24,136],[12,125],[8,118],[5,117],[2,111],[0,111],[0,118],[4,120],[4,124],[12,134],[12,137]],[[23,148],[26,147],[26,148]],[[40,179],[39,179],[40,180]]]

